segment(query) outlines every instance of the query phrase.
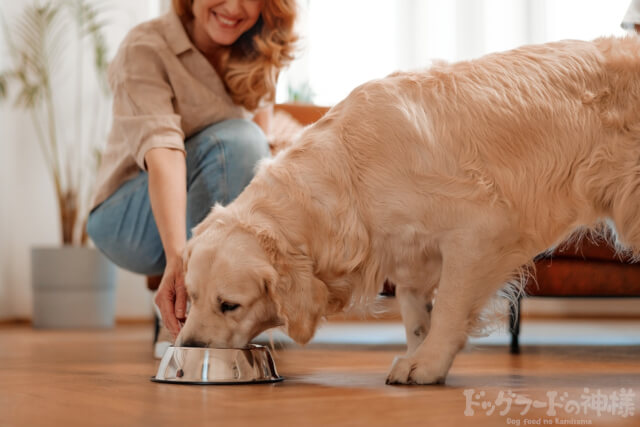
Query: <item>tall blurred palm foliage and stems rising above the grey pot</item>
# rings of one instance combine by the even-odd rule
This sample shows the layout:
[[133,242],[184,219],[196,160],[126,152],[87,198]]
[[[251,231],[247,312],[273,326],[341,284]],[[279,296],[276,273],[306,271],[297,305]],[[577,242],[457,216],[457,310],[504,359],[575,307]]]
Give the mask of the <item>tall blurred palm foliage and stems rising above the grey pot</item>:
[[[82,238],[74,238],[74,230],[77,222],[86,221],[86,218],[78,218],[77,214],[79,206],[86,203],[83,201],[85,196],[81,193],[87,187],[86,180],[83,181],[87,159],[81,157],[85,153],[82,147],[87,141],[84,140],[86,135],[80,125],[80,114],[76,114],[76,145],[58,144],[64,133],[60,132],[58,135],[60,111],[57,111],[54,102],[52,79],[61,70],[64,73],[75,71],[75,81],[78,82],[76,113],[82,113],[85,68],[82,54],[84,49],[90,48],[94,75],[103,92],[108,93],[107,45],[103,35],[107,9],[108,2],[103,0],[33,0],[32,4],[24,7],[22,15],[12,24],[11,29],[2,19],[13,67],[0,72],[0,99],[6,98],[9,86],[15,84],[15,105],[31,113],[38,142],[56,189],[64,243],[83,241]],[[68,55],[70,48],[74,46],[78,54],[75,70],[69,68]],[[66,95],[65,104],[68,104],[68,98]],[[97,117],[92,117],[91,120],[99,121]],[[95,142],[95,139],[88,139],[89,144]],[[77,156],[78,153],[81,155]]]

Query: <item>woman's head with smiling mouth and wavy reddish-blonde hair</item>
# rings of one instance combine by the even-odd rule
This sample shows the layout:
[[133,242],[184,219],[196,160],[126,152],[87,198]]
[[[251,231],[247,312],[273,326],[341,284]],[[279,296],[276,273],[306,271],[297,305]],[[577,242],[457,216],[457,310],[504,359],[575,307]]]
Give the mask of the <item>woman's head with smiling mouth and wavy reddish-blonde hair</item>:
[[211,57],[235,103],[274,100],[280,70],[293,59],[295,2],[173,0],[196,47]]

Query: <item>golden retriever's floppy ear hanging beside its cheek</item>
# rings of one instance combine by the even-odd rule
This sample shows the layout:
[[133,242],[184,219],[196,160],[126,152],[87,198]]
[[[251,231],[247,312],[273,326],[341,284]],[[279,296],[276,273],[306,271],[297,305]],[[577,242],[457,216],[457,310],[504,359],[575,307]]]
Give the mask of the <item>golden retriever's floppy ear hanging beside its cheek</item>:
[[275,283],[267,283],[267,292],[287,334],[298,344],[306,344],[313,338],[329,300],[327,285],[313,275],[307,264],[306,260],[288,264],[278,272]]

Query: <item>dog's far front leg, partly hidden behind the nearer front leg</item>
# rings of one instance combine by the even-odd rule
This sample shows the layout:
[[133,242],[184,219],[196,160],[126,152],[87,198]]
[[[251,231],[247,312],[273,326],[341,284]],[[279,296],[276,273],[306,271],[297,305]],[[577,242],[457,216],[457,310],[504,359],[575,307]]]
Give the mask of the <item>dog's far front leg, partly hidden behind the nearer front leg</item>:
[[407,335],[407,355],[412,354],[429,333],[431,326],[431,310],[433,309],[433,292],[396,287],[396,298],[400,305],[402,322]]

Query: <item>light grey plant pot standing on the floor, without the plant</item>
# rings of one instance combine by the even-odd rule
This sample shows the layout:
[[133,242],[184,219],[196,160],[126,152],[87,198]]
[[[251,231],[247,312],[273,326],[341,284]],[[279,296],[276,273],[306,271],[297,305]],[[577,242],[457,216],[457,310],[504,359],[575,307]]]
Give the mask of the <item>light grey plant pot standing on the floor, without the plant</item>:
[[86,247],[31,249],[35,328],[111,328],[115,266]]

